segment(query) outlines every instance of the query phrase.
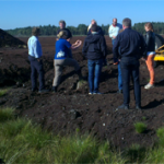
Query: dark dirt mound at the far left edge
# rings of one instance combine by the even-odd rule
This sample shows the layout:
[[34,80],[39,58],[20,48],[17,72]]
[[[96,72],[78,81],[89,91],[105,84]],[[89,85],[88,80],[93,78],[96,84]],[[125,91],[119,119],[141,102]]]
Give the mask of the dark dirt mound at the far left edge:
[[0,28],[0,47],[26,48],[26,44]]

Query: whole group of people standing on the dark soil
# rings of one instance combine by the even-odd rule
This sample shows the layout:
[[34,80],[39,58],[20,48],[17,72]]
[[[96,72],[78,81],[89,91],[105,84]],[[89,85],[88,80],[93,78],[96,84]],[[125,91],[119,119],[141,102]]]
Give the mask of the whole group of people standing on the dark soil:
[[[66,22],[59,22],[60,30],[57,33],[56,54],[54,58],[55,78],[52,81],[52,92],[57,92],[60,84],[62,69],[66,66],[74,67],[79,80],[83,80],[81,68],[77,60],[72,58],[72,50],[82,45],[82,40],[77,40],[70,44],[72,38],[71,32],[66,28]],[[148,65],[150,71],[150,82],[144,89],[154,87],[154,69],[153,59],[155,57],[155,34],[153,33],[153,25],[147,23],[144,25],[147,35],[145,38],[138,32],[131,28],[131,20],[124,19],[122,25],[117,23],[117,19],[113,19],[113,24],[109,26],[108,33],[113,42],[114,65],[118,66],[118,93],[124,93],[124,104],[118,109],[129,109],[130,95],[129,82],[132,77],[134,85],[136,109],[141,109],[141,89],[139,81],[139,59],[142,58]],[[39,93],[46,93],[44,83],[44,69],[42,61],[42,46],[38,40],[39,28],[34,27],[32,37],[30,37],[28,59],[31,61],[31,79],[32,91],[37,90],[37,72],[39,74]],[[99,78],[103,65],[107,65],[106,55],[107,46],[104,33],[95,20],[91,21],[87,28],[87,36],[83,43],[83,55],[87,59],[89,68],[89,94],[102,94],[98,91]]]

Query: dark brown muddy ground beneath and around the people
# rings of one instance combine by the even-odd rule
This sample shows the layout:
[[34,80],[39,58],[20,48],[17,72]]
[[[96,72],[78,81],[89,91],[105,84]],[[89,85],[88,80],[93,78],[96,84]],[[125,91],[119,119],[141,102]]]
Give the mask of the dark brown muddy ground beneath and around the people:
[[[84,40],[84,37],[74,37]],[[20,38],[27,42],[27,38]],[[73,42],[72,40],[72,42]],[[164,126],[164,65],[155,68],[155,87],[144,90],[149,82],[149,72],[144,61],[140,61],[140,82],[143,110],[136,110],[133,86],[130,85],[130,109],[116,110],[122,104],[122,94],[117,94],[117,66],[113,66],[112,40],[106,36],[109,66],[103,68],[99,91],[103,95],[87,95],[89,86],[77,90],[78,75],[73,68],[65,68],[58,93],[38,94],[31,92],[31,68],[27,49],[0,48],[0,86],[10,91],[0,97],[0,105],[14,107],[16,116],[33,119],[44,129],[55,133],[91,132],[98,139],[107,139],[117,148],[127,148],[132,143],[153,145],[156,129]],[[54,79],[55,37],[40,37],[44,52],[46,87],[51,87]],[[87,77],[86,59],[82,47],[73,51],[82,73]],[[137,133],[134,122],[148,125],[144,133]]]

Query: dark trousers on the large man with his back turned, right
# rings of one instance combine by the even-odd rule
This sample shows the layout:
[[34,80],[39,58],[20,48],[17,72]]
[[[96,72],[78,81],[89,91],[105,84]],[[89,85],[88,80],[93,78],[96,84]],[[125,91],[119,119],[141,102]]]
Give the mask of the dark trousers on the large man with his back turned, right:
[[121,69],[121,77],[122,77],[122,93],[124,93],[124,104],[126,106],[130,103],[130,75],[133,79],[134,85],[134,98],[136,105],[141,105],[141,87],[140,87],[140,80],[139,80],[139,67],[140,63],[138,60],[132,61],[120,61],[120,69]]

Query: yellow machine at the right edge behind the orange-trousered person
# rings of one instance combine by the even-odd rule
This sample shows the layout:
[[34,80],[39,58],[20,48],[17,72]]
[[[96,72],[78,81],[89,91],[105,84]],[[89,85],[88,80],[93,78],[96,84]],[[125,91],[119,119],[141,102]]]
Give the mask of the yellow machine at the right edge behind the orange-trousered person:
[[154,67],[157,67],[160,61],[164,61],[164,38],[155,34],[155,52]]

